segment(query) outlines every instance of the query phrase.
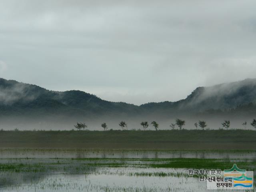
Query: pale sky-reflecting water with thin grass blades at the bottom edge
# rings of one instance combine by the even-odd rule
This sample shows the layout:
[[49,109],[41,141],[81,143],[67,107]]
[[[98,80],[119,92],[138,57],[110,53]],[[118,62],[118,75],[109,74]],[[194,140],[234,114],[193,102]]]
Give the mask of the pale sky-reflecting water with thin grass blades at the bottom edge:
[[[206,184],[199,183],[197,178],[187,176],[130,176],[135,172],[183,172],[185,169],[152,169],[152,168],[100,168],[96,172],[86,174],[58,173],[38,175],[32,180],[24,173],[9,175],[16,178],[15,183],[0,184],[3,192],[73,192],[73,191],[205,191]],[[3,176],[1,174],[1,176]],[[26,178],[26,179],[25,179]]]

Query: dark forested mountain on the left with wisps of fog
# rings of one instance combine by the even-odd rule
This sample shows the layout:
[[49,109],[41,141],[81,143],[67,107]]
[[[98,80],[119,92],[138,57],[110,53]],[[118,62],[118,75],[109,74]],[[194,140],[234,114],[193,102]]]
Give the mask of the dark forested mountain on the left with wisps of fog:
[[0,78],[0,112],[4,114],[102,115],[136,112],[138,106],[109,102],[78,90],[56,92]]

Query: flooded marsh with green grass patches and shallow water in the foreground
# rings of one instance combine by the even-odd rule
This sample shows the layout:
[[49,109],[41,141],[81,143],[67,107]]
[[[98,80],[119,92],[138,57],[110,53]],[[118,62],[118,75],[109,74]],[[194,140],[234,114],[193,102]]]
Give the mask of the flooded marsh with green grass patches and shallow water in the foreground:
[[[60,149],[14,149],[16,158],[4,156],[13,149],[2,149],[0,158],[0,190],[4,192],[162,192],[162,191],[205,191],[206,183],[188,176],[189,168],[226,169],[236,163],[241,168],[256,170],[255,151],[232,151],[227,158],[225,151],[216,151],[218,158],[59,158],[60,152],[77,153],[79,150]],[[91,150],[92,154],[106,151]],[[110,151],[118,153],[120,151]],[[144,150],[129,151],[130,154],[150,153]],[[186,151],[154,151],[167,154]],[[56,157],[51,158],[55,153]],[[24,158],[24,154],[27,158]],[[38,158],[31,158],[32,155]],[[210,151],[208,151],[208,155]],[[221,155],[222,154],[222,155]],[[241,156],[237,156],[241,154]],[[214,156],[214,153],[212,153]],[[208,156],[210,157],[210,156]],[[233,158],[235,157],[235,158]]]

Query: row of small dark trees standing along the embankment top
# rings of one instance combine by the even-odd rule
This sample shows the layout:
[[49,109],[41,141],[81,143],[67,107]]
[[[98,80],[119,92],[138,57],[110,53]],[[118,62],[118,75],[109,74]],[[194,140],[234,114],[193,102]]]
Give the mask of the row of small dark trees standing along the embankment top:
[[[178,126],[178,128],[180,130],[182,130],[182,127],[185,125],[185,123],[186,123],[185,120],[177,118],[175,120],[175,123],[170,124],[170,127],[172,129],[175,129],[175,127]],[[156,121],[152,121],[150,124],[155,128],[156,131],[158,130],[159,124]],[[120,126],[120,128],[122,128],[122,130],[124,130],[124,128],[127,128],[127,123],[125,121],[121,121],[118,125]],[[143,130],[146,130],[149,127],[149,124],[147,121],[142,121],[140,123],[140,125],[142,126]],[[256,119],[253,119],[252,122],[250,123],[250,125],[253,126],[254,128],[256,128]],[[207,124],[206,124],[206,121],[199,120],[198,122],[194,123],[194,126],[196,127],[196,129],[198,129],[198,126],[199,126],[202,130],[204,130],[204,128],[207,127]],[[230,120],[224,120],[224,122],[222,122],[222,126],[223,126],[223,128],[226,128],[226,129],[230,128]],[[247,122],[246,121],[243,122],[242,126],[244,126],[244,128],[246,128]],[[81,130],[81,129],[87,128],[87,125],[82,122],[80,122],[80,123],[77,122],[76,125],[74,125],[74,127],[77,130]],[[101,127],[104,129],[104,131],[108,130],[108,126],[106,123],[102,123]]]

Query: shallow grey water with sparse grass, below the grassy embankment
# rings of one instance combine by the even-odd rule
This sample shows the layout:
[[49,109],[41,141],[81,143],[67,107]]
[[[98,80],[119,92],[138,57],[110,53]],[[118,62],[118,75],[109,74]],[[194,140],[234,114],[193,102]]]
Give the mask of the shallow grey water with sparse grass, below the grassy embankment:
[[230,158],[251,164],[255,152],[1,149],[0,191],[206,191],[206,183],[188,176],[188,168],[151,166],[172,158]]

